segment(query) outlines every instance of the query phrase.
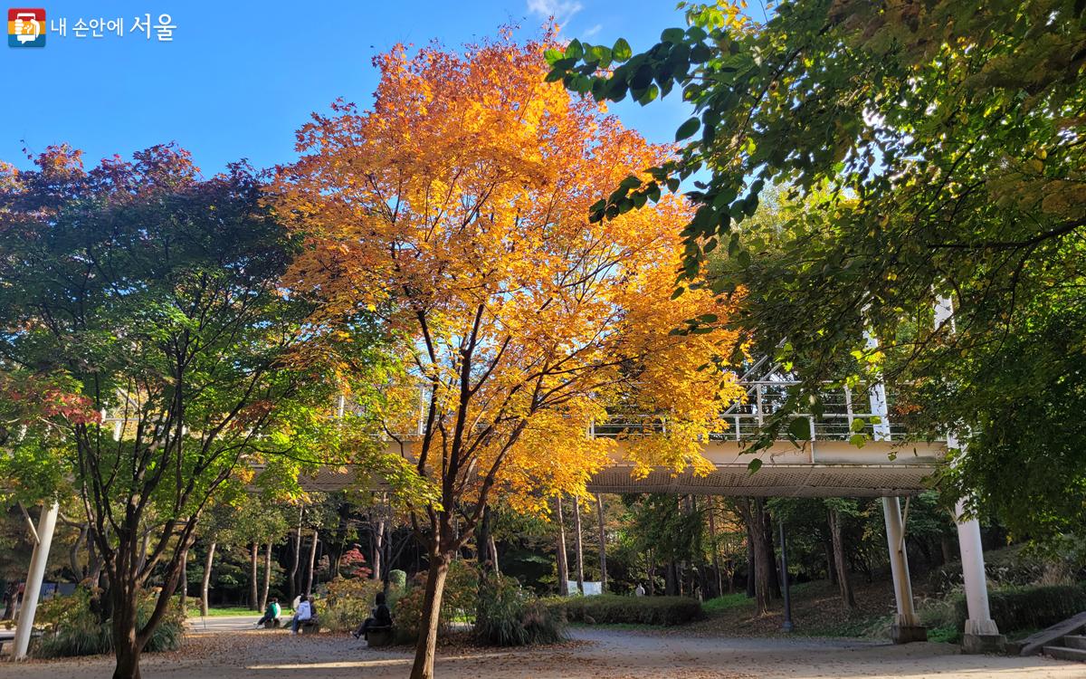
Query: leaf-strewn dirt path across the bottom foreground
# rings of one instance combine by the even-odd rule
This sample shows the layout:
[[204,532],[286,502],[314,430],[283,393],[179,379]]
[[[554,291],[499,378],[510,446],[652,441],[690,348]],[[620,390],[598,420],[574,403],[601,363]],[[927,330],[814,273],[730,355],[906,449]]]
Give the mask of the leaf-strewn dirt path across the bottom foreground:
[[[178,653],[144,656],[149,679],[406,677],[411,654],[370,651],[345,636],[290,637],[280,631],[193,634]],[[0,666],[5,679],[88,679],[109,676],[110,658]],[[1086,665],[1044,657],[961,655],[956,646],[894,646],[862,641],[712,639],[613,629],[577,629],[560,646],[446,650],[442,679],[815,679],[838,677],[939,679],[1086,679]]]

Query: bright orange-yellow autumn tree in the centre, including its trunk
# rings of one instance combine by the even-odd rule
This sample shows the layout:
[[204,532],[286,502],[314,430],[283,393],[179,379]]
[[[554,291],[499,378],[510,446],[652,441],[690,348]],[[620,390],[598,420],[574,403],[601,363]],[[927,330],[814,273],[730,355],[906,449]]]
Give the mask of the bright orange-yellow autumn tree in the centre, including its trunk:
[[376,310],[411,366],[388,430],[440,488],[409,507],[429,562],[415,678],[433,676],[449,563],[492,498],[583,494],[614,449],[589,436],[608,410],[667,422],[628,444],[639,470],[704,470],[697,436],[735,394],[715,363],[732,335],[672,332],[729,311],[707,290],[671,299],[682,201],[588,219],[670,150],[545,83],[548,47],[395,48],[371,109],[316,115],[277,186],[306,238],[292,285]]

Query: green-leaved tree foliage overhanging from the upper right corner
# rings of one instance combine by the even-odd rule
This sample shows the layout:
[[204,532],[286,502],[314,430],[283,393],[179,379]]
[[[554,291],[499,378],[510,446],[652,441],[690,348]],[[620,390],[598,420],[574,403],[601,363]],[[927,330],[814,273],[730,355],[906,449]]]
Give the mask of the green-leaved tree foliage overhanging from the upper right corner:
[[[1082,352],[1057,334],[1077,337],[1066,328],[1086,318],[1086,5],[804,0],[763,24],[740,3],[686,16],[640,54],[574,40],[548,55],[552,79],[599,100],[681,90],[695,108],[681,158],[653,183],[616,185],[593,218],[703,172],[685,275],[727,250],[738,275],[715,289],[745,294],[731,319],[806,382],[763,440],[821,380],[881,372],[914,388],[902,404],[921,436],[952,428],[970,443],[959,493],[980,490],[1026,532],[1069,528],[1086,430],[1063,408],[1084,382]],[[804,204],[748,238],[773,185]],[[954,324],[933,318],[940,297]]]

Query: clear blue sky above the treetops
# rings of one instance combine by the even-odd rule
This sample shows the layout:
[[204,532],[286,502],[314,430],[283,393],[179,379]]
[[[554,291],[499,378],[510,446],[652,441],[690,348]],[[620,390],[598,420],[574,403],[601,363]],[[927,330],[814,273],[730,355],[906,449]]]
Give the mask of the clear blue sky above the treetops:
[[[0,160],[18,167],[29,164],[24,146],[40,152],[59,142],[83,149],[88,165],[166,141],[189,149],[205,174],[239,158],[289,162],[293,133],[313,111],[337,97],[368,104],[370,59],[396,42],[458,47],[509,23],[532,37],[555,14],[566,38],[610,45],[624,37],[636,51],[683,25],[672,0],[35,2],[18,7],[64,17],[67,36],[50,33],[41,49],[0,45]],[[177,26],[172,42],[130,32],[135,16],[163,13]],[[124,37],[74,36],[79,18],[116,17]],[[674,93],[613,112],[653,141],[671,141],[690,115]]]

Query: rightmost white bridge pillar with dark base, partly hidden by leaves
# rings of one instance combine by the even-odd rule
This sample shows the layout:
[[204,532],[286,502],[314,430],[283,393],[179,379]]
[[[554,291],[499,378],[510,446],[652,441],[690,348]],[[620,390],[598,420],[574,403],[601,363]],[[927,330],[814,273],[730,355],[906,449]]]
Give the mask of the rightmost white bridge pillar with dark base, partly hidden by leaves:
[[[935,301],[935,327],[947,325],[955,331],[954,305],[948,297]],[[947,433],[947,449],[965,451],[956,432]],[[952,463],[951,463],[952,464]],[[962,498],[954,510],[954,521],[958,526],[958,544],[961,548],[961,575],[965,582],[965,606],[969,618],[962,636],[962,651],[965,653],[992,653],[1001,651],[1007,638],[999,633],[988,607],[988,579],[984,571],[984,545],[981,543],[981,523],[965,516],[967,499]]]

